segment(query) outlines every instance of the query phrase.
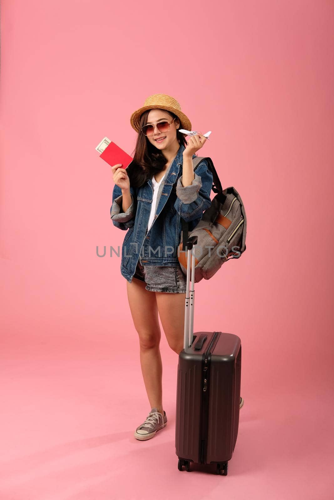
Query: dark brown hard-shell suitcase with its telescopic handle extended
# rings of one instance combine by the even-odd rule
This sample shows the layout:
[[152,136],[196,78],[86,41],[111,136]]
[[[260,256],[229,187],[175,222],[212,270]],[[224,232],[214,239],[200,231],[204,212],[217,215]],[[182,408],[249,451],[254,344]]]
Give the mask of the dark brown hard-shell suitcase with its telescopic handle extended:
[[190,471],[190,462],[212,463],[217,474],[226,475],[238,435],[241,340],[221,331],[193,333],[195,253],[191,249],[196,243],[197,236],[187,240],[184,348],[179,354],[177,373],[175,448],[179,470],[185,465]]

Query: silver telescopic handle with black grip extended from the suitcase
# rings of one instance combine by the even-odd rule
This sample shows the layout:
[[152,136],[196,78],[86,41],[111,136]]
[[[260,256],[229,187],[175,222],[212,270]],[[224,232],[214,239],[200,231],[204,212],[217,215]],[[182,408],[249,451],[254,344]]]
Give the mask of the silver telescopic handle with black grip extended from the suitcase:
[[[197,236],[190,236],[187,240],[187,285],[184,306],[184,341],[183,348],[190,347],[194,337],[194,302],[195,302],[195,246]],[[190,255],[191,255],[191,289],[190,289]]]

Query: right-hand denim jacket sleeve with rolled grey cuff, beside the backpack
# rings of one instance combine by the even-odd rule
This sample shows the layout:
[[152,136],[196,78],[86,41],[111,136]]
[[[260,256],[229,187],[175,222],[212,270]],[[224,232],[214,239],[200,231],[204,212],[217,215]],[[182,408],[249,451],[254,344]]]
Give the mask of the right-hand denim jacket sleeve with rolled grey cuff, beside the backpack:
[[194,170],[194,176],[188,186],[182,186],[182,175],[176,184],[174,208],[186,221],[202,218],[203,211],[211,206],[213,176],[205,159]]

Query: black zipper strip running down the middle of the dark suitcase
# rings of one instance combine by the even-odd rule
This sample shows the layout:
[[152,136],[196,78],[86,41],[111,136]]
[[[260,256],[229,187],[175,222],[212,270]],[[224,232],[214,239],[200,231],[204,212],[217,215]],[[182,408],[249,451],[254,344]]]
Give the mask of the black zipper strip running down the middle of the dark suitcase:
[[203,354],[203,390],[202,390],[202,411],[201,411],[201,439],[200,439],[200,463],[206,463],[206,445],[208,438],[208,409],[209,409],[209,374],[210,374],[210,360],[211,349],[220,336],[220,331],[214,331],[211,341]]

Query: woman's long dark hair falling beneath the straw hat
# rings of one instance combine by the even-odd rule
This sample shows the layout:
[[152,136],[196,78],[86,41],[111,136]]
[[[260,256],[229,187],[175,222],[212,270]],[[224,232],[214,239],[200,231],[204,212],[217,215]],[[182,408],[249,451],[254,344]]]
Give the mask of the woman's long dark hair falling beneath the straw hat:
[[[166,113],[170,114],[172,118],[178,118],[178,116],[172,111],[168,111],[167,109],[162,109],[162,111],[166,111]],[[154,147],[146,135],[144,135],[141,131],[141,127],[147,123],[149,112],[150,109],[147,109],[140,116],[136,146],[132,152],[133,161],[126,169],[130,185],[133,187],[142,186],[148,179],[152,178],[153,175],[161,172],[167,162],[162,151]],[[180,118],[178,119],[180,120]],[[176,138],[180,145],[183,144],[184,147],[186,147],[187,141],[185,139],[185,135],[182,132],[179,132],[178,128],[176,129]]]

